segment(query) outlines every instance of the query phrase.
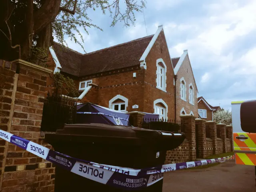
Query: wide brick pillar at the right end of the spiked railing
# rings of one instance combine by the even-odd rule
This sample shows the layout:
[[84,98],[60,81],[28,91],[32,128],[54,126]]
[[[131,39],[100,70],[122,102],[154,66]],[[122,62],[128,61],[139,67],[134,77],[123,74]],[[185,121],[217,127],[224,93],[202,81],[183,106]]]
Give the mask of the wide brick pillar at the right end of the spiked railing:
[[186,138],[189,141],[190,161],[196,160],[196,117],[192,115],[180,116],[180,122],[184,126]]

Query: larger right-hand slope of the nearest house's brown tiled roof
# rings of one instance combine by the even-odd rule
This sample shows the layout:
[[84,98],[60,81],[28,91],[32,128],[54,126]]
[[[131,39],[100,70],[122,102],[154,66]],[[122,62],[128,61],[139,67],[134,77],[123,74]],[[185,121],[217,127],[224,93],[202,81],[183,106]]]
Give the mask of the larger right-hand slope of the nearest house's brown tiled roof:
[[153,35],[84,54],[79,76],[139,65]]

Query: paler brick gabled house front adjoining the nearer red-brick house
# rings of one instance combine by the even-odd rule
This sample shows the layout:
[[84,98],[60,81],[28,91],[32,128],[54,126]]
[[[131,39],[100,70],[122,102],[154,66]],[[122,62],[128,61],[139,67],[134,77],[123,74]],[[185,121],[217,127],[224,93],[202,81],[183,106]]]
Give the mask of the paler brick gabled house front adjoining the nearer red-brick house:
[[174,67],[174,75],[176,81],[176,117],[180,115],[190,114],[198,116],[198,103],[196,80],[194,78],[192,66],[190,64],[188,50],[184,50],[183,54],[178,58],[172,58]]

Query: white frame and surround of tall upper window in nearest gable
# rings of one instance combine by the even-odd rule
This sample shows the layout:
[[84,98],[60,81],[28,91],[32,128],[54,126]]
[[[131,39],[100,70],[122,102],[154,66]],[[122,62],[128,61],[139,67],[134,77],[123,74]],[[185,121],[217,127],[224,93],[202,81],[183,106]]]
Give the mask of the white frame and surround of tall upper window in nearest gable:
[[[164,67],[160,66],[159,63],[162,63]],[[160,69],[162,69],[162,74],[160,73]],[[156,60],[156,88],[166,92],[166,71],[167,71],[167,67],[166,64],[164,62],[164,60],[162,58],[159,58]],[[160,78],[162,77],[162,87],[160,86]]]

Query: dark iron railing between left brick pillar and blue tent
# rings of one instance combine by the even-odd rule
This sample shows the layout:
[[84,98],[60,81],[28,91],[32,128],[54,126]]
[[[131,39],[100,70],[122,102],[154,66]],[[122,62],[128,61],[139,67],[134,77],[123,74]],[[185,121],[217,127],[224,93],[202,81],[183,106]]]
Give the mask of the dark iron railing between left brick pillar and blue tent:
[[63,127],[64,124],[76,122],[77,101],[64,95],[47,94],[44,100],[41,131],[53,131]]

